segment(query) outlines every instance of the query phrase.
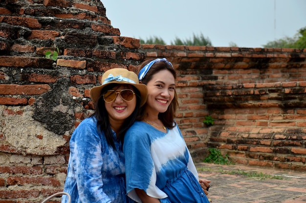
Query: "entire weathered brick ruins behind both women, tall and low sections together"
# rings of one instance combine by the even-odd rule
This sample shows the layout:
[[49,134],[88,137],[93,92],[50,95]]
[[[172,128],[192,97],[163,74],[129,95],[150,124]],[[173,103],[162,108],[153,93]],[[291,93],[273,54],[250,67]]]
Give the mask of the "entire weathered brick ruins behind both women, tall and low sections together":
[[[46,59],[55,47],[57,61]],[[177,71],[176,121],[195,160],[219,147],[234,162],[306,171],[306,50],[140,45],[100,0],[1,0],[0,203],[62,191],[90,88],[109,68],[156,57]]]

